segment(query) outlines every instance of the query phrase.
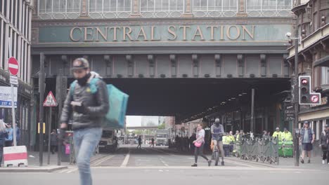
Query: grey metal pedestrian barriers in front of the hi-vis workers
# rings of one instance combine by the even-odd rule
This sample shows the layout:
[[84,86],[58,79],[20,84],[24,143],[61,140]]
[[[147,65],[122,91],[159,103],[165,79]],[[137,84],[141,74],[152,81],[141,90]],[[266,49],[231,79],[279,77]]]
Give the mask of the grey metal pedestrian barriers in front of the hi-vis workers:
[[278,139],[276,137],[243,138],[240,141],[240,158],[278,164]]

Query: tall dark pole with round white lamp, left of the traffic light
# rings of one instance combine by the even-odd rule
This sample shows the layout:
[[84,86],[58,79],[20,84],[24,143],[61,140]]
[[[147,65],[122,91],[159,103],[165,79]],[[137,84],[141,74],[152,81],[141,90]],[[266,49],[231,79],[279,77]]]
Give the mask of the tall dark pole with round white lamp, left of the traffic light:
[[[288,32],[285,34],[290,41],[295,41],[295,70],[294,73],[292,74],[291,78],[291,86],[292,86],[292,102],[294,103],[295,107],[295,120],[293,123],[293,128],[294,132],[297,132],[298,130],[298,109],[299,109],[299,104],[298,104],[298,86],[297,86],[297,79],[298,79],[298,43],[299,43],[299,38],[298,38],[298,28],[296,28],[296,37],[292,38],[291,33]],[[295,166],[299,166],[299,138],[297,135],[294,137],[294,149],[295,149]]]

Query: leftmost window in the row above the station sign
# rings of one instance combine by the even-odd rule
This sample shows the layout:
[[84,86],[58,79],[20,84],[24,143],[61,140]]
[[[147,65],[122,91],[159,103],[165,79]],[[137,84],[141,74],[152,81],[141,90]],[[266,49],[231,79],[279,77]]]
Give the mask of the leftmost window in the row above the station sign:
[[39,18],[75,19],[79,17],[81,0],[39,0]]

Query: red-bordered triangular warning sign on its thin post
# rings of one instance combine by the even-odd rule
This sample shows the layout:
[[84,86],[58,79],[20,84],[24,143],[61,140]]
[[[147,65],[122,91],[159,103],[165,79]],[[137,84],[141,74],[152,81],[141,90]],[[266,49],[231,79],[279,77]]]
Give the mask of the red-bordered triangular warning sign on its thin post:
[[[44,100],[44,107],[49,107],[49,121],[48,121],[48,165],[50,165],[50,150],[51,150],[51,119],[52,119],[52,107],[56,107],[58,104],[56,102],[55,96],[50,91],[46,97],[46,100]],[[60,151],[58,150],[58,153]]]

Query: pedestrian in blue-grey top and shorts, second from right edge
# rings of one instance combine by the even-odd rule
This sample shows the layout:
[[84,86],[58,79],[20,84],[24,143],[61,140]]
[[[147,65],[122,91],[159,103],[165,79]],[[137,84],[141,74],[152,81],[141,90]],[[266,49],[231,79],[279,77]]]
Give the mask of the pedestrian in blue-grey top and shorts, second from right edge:
[[309,121],[304,121],[304,128],[300,132],[299,142],[302,143],[302,160],[300,163],[304,163],[305,153],[309,156],[307,163],[311,163],[311,151],[313,150],[313,143],[315,140],[314,130],[309,127]]

